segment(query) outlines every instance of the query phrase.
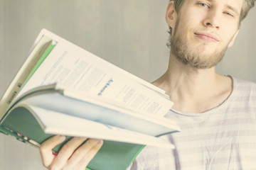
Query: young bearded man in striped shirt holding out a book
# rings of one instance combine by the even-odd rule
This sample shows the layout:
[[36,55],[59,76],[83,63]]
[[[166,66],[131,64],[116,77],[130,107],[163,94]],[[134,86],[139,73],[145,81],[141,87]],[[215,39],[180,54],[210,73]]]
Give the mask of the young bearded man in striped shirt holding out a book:
[[[176,149],[145,147],[131,169],[255,169],[256,84],[215,73],[254,3],[170,1],[169,67],[153,84],[174,101],[166,117],[176,120],[181,132],[163,137]],[[48,169],[85,169],[102,141],[88,140],[80,146],[84,140],[74,138],[56,157],[51,149],[63,137],[46,141],[41,147],[43,164]]]

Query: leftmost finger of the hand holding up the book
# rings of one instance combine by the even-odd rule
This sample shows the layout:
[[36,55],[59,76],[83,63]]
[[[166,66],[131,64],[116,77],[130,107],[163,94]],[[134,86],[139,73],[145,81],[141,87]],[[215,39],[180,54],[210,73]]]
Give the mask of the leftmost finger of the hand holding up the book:
[[46,140],[46,142],[43,142],[39,148],[43,166],[50,166],[50,164],[53,162],[53,159],[55,158],[55,156],[52,154],[52,149],[61,142],[64,142],[64,140],[65,136],[56,135],[51,137],[49,140]]

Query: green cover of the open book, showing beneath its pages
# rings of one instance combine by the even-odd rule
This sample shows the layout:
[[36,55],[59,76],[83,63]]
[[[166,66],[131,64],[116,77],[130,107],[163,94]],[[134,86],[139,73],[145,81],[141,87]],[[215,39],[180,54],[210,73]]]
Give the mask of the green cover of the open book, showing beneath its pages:
[[[56,120],[56,123],[58,123],[58,120]],[[22,134],[23,137],[19,137],[18,135],[15,137],[21,138],[20,140],[23,140],[23,142],[33,141],[32,143],[41,144],[43,141],[53,136],[45,134],[33,115],[31,115],[26,108],[22,107],[15,108],[13,111],[11,111],[11,113],[4,120],[2,126],[4,128],[2,127],[1,129],[5,129],[6,131],[11,129],[13,130],[14,134],[15,132]],[[65,142],[70,140],[70,138],[71,137],[67,137]],[[60,148],[65,145],[65,142],[55,147],[53,151],[58,153]],[[127,169],[127,167],[132,164],[143,148],[144,145],[104,141],[100,151],[87,166],[87,170]]]

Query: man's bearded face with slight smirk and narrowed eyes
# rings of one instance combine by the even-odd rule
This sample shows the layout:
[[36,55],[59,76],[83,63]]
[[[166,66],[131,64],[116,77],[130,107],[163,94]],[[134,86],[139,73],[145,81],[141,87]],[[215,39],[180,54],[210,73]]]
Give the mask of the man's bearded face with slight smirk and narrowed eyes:
[[214,67],[238,33],[242,0],[185,0],[171,37],[171,52],[183,64]]

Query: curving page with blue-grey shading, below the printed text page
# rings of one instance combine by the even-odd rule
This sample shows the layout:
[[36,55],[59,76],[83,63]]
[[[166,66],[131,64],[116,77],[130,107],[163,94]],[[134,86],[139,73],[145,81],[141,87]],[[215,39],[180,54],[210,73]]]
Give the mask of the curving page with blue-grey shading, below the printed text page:
[[179,131],[178,125],[167,118],[129,111],[102,103],[101,100],[95,98],[81,99],[82,101],[66,97],[57,92],[41,93],[24,98],[16,107],[19,105],[37,106],[152,136]]

